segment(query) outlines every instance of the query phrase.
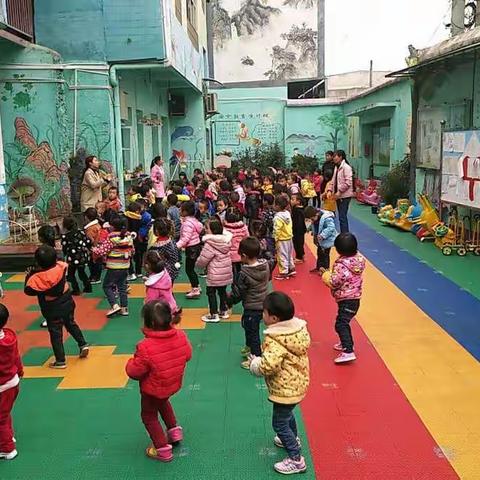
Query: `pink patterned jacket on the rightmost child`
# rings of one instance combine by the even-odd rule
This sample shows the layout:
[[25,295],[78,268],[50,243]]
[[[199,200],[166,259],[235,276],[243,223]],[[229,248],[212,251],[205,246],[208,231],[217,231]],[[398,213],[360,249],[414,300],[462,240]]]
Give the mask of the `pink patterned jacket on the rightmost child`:
[[365,258],[357,253],[353,257],[339,257],[332,272],[325,272],[323,279],[337,302],[356,300],[362,296],[364,270]]

